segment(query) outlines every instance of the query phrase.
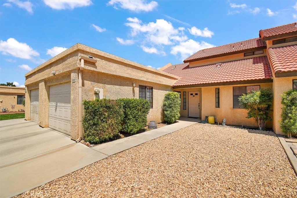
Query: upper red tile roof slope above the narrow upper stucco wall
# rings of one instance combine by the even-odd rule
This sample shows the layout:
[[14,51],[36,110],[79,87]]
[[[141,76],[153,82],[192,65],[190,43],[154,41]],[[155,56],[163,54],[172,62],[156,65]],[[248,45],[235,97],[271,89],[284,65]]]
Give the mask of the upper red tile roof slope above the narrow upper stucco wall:
[[255,38],[255,39],[249,39],[246,41],[240,41],[236,43],[231,43],[227,45],[221,45],[218,47],[211,47],[204,50],[199,50],[192,56],[189,56],[184,60],[184,63],[197,61],[197,60],[203,60],[206,58],[212,58],[212,57],[218,57],[218,56],[225,56],[228,54],[232,54],[234,52],[239,53],[240,51],[245,50],[253,50],[257,47],[265,48],[266,43],[261,38]]

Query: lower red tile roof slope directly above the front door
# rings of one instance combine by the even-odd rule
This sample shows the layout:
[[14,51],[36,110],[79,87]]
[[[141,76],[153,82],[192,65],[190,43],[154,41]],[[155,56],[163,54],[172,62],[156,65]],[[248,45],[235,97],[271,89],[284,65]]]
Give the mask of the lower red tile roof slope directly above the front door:
[[189,63],[177,64],[163,71],[181,77],[173,86],[261,80],[272,77],[267,56],[228,61],[221,65],[189,67]]

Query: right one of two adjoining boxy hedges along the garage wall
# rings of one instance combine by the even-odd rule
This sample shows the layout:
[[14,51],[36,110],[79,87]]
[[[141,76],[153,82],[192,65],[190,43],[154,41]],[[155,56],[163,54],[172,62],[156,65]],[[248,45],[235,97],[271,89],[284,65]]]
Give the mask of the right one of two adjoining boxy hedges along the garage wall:
[[124,108],[124,126],[122,129],[124,132],[135,134],[146,126],[150,109],[148,100],[121,98],[117,101],[121,102]]

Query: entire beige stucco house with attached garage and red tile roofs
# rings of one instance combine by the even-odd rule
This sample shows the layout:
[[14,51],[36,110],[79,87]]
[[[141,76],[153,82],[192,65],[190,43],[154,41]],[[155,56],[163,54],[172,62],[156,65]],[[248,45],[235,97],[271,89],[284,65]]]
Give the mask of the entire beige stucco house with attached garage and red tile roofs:
[[25,75],[25,119],[80,141],[83,99],[147,99],[148,121],[162,122],[164,94],[178,91],[181,116],[257,126],[246,118],[238,97],[271,88],[273,121],[267,127],[281,133],[280,94],[297,86],[296,54],[296,23],[260,30],[259,38],[200,50],[182,64],[159,70],[76,44]]

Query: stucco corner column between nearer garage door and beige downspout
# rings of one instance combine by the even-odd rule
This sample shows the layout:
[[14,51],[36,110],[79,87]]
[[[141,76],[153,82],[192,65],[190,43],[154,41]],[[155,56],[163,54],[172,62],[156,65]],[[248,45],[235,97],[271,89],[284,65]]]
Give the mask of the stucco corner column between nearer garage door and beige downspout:
[[[74,82],[75,81],[75,82]],[[70,138],[72,140],[78,139],[79,120],[78,120],[78,69],[71,71],[71,115],[70,115]]]

